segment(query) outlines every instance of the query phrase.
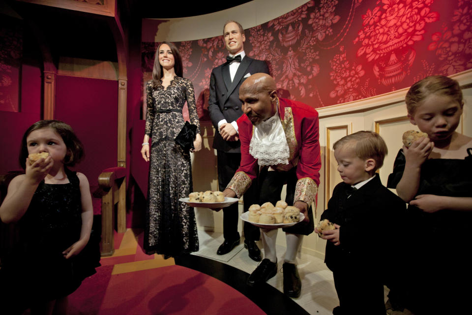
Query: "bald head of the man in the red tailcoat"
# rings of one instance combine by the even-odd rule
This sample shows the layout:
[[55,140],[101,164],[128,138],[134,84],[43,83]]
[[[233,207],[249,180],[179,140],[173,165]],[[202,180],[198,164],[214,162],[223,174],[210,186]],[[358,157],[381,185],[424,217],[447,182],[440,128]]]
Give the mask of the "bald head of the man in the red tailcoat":
[[274,116],[277,110],[277,87],[266,73],[247,78],[239,88],[241,109],[254,126]]

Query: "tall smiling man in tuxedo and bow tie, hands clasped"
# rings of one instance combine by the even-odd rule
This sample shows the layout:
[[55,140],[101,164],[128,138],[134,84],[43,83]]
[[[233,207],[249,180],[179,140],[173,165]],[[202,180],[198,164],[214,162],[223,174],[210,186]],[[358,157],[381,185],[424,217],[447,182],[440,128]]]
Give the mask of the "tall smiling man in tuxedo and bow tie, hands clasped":
[[[210,95],[208,112],[216,132],[213,148],[217,150],[218,185],[219,190],[226,188],[235,174],[241,159],[240,142],[236,120],[241,117],[241,102],[239,101],[239,86],[253,73],[269,73],[266,62],[252,59],[244,53],[244,30],[235,21],[226,22],[223,27],[223,37],[226,49],[230,53],[227,62],[211,71]],[[233,60],[233,58],[235,58]],[[244,211],[253,203],[252,189],[244,195]],[[223,234],[225,241],[218,248],[217,254],[231,252],[239,244],[237,203],[223,209]],[[244,222],[244,247],[249,251],[249,257],[260,261],[261,251],[255,241],[259,240],[259,229]]]

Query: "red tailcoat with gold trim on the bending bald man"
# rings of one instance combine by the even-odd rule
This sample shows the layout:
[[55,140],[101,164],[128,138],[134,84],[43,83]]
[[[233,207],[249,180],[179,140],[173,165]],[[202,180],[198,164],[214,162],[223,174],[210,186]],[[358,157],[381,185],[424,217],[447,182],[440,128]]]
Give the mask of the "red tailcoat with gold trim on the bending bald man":
[[[290,149],[288,165],[273,166],[278,170],[288,170],[296,166],[298,181],[295,187],[295,201],[311,204],[315,200],[320,185],[320,142],[318,112],[301,102],[279,98],[278,113]],[[241,141],[241,163],[228,184],[240,197],[256,178],[259,167],[257,159],[249,153],[253,125],[246,115],[237,120]]]

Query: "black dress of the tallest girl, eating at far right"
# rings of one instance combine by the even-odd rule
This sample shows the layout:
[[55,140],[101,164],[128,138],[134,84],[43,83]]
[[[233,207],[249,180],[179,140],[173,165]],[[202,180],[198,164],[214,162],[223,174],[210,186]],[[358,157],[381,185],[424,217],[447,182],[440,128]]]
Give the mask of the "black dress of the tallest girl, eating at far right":
[[[416,195],[472,197],[472,148],[464,159],[428,159],[421,165]],[[388,188],[396,188],[405,169],[400,150]],[[409,205],[400,231],[405,235],[401,290],[415,314],[450,313],[470,298],[472,212],[440,210],[426,213]],[[466,288],[463,288],[463,287]],[[469,297],[468,297],[469,296]]]

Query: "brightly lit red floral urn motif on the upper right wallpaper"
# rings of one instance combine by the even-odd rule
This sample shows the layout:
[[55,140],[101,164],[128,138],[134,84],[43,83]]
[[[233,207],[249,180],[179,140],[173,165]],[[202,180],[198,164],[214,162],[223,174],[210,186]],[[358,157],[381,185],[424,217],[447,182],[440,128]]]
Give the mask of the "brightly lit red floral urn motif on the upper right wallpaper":
[[413,64],[413,45],[423,40],[426,23],[439,19],[430,9],[433,0],[382,0],[382,6],[368,9],[362,15],[363,29],[354,44],[361,43],[357,57],[365,54],[374,61],[373,72],[385,85],[403,81]]

